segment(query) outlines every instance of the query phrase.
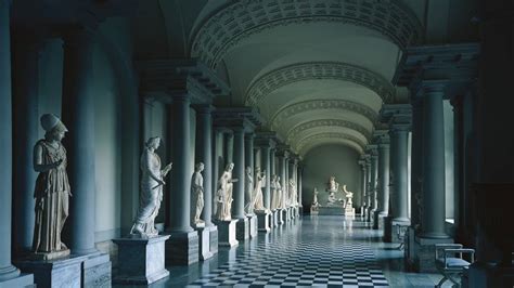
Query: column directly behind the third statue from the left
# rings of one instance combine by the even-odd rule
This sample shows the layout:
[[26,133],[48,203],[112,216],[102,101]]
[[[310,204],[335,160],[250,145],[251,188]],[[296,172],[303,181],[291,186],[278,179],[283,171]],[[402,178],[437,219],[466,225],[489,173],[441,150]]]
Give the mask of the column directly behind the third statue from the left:
[[196,136],[196,162],[204,163],[204,210],[202,219],[205,226],[211,226],[213,215],[213,106],[197,105],[196,126],[198,134]]

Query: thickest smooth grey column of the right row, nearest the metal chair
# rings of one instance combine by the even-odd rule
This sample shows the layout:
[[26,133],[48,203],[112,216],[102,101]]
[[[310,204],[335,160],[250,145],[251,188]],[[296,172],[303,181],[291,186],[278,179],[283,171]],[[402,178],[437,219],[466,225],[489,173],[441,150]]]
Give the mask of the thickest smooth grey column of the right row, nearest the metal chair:
[[423,88],[423,217],[422,237],[447,238],[445,232],[445,130],[442,83]]

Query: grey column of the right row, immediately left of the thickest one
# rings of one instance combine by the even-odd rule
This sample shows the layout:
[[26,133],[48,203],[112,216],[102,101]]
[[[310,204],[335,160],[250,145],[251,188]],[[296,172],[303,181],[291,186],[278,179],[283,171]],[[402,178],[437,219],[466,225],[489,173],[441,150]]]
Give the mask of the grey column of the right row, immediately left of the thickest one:
[[408,212],[408,189],[409,185],[407,181],[408,173],[408,127],[393,127],[390,130],[393,159],[391,159],[391,173],[393,173],[393,193],[391,193],[391,206],[393,206],[393,221],[395,222],[409,222]]

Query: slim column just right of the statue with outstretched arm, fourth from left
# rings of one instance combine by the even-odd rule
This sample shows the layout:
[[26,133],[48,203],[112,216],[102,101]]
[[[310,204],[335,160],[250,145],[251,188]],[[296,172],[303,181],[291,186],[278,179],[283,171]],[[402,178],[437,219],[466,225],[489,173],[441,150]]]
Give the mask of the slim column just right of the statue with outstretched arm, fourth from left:
[[234,173],[233,178],[239,181],[234,183],[234,204],[232,210],[232,218],[245,219],[244,213],[244,128],[234,129]]

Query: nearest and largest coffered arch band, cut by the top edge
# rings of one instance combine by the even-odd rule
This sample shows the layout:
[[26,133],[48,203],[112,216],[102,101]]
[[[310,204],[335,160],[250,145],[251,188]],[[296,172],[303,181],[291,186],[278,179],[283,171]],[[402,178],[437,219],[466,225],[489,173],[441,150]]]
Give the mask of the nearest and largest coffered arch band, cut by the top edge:
[[233,0],[207,15],[191,37],[191,55],[215,68],[252,35],[307,23],[340,23],[384,35],[401,49],[415,44],[422,25],[400,0]]

